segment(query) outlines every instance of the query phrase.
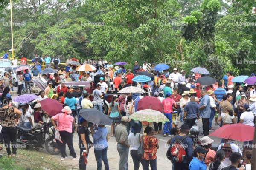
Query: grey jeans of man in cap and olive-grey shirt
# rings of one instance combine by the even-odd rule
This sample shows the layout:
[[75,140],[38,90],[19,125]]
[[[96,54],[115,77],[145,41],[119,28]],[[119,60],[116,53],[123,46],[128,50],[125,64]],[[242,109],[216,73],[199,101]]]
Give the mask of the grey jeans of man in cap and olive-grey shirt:
[[128,170],[128,156],[129,147],[125,147],[122,144],[117,144],[117,151],[119,153],[119,170]]

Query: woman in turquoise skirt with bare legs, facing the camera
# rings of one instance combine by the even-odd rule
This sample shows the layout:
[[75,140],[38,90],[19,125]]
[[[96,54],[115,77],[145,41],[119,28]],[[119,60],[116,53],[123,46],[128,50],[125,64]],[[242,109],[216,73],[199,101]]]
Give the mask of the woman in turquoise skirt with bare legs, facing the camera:
[[116,96],[113,96],[112,102],[109,104],[109,107],[108,107],[108,116],[111,119],[111,136],[112,137],[114,136],[114,127],[119,125],[120,118],[122,117],[120,108],[119,108],[119,103],[116,102],[117,99],[118,98]]

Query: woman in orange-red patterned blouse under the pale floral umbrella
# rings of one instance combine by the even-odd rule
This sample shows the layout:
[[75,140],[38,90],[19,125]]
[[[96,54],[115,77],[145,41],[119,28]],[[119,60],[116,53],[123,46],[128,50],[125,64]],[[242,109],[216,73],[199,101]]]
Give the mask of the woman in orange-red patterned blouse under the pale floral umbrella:
[[149,170],[150,164],[151,170],[157,170],[157,149],[159,149],[158,140],[154,137],[154,129],[150,126],[146,127],[143,136],[143,149],[144,154],[141,158],[141,164],[143,170]]

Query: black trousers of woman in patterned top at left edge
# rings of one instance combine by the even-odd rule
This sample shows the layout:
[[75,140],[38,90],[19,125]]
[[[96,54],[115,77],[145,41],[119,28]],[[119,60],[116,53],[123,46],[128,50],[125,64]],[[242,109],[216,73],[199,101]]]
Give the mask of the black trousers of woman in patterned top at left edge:
[[[1,134],[3,135],[4,145],[8,155],[16,155],[17,151],[17,127],[2,127]],[[10,142],[12,142],[12,152],[10,150]]]

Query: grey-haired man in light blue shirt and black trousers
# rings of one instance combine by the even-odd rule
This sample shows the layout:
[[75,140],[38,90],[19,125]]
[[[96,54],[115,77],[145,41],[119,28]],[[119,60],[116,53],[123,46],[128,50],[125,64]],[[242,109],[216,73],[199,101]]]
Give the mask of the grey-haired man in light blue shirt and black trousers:
[[203,122],[203,133],[200,136],[207,136],[209,135],[209,118],[211,115],[210,98],[206,90],[202,90],[200,95],[201,98],[196,101],[199,101],[199,116],[202,117]]

